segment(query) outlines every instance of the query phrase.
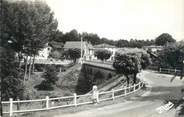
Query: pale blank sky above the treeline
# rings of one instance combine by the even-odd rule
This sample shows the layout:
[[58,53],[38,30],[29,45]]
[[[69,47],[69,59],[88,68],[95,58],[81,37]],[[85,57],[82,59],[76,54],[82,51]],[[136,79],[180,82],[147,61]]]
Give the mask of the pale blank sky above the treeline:
[[58,29],[118,39],[155,39],[162,33],[184,40],[184,0],[45,0]]

